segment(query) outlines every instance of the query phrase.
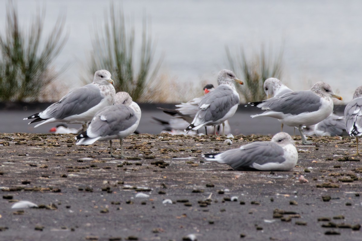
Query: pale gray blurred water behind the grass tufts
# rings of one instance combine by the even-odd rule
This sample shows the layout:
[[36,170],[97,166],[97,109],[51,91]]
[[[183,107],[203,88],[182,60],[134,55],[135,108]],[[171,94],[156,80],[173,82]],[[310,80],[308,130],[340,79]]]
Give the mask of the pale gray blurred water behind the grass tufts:
[[[0,1],[1,31],[7,3]],[[17,0],[15,3],[22,24],[45,7],[45,32],[51,31],[59,14],[66,16],[69,39],[55,67],[68,63],[70,68],[56,80],[67,85],[60,97],[84,85],[80,78],[87,76],[94,26],[104,24],[111,2]],[[156,59],[164,56],[160,74],[182,83],[182,90],[176,91],[187,92],[200,80],[215,83],[216,73],[227,68],[226,46],[232,51],[243,47],[247,54],[260,50],[262,45],[277,53],[282,48],[281,80],[293,90],[309,89],[313,83],[325,81],[347,103],[361,85],[362,2],[358,0],[123,0],[114,4],[123,8],[136,33],[142,33],[143,17],[147,17],[148,34],[156,40]],[[136,43],[140,41],[136,36]]]

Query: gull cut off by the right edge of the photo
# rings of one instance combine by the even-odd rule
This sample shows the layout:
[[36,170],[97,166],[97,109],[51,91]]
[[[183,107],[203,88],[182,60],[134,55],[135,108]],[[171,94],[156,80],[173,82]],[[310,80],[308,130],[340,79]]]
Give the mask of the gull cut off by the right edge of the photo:
[[358,137],[362,135],[362,86],[359,86],[353,94],[353,100],[344,109],[346,131],[350,136],[356,137],[358,153]]

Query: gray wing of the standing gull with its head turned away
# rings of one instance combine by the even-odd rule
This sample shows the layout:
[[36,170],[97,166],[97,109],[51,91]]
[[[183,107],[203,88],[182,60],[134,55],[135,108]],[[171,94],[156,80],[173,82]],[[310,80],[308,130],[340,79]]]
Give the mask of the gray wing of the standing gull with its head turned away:
[[98,111],[87,130],[88,137],[106,137],[127,130],[137,122],[135,112],[124,104],[108,106]]

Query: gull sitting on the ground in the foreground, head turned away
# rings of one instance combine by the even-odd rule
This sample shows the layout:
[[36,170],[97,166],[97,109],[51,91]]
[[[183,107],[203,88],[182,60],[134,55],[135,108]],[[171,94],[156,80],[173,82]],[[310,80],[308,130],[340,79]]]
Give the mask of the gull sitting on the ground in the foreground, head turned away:
[[222,153],[202,155],[207,161],[216,161],[243,171],[290,171],[298,161],[298,151],[288,133],[279,132],[271,141],[256,141]]

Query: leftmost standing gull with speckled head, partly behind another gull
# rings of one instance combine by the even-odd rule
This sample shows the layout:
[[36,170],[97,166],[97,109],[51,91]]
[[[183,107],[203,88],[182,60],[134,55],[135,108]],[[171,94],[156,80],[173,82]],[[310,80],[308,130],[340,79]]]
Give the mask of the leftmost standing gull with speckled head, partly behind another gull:
[[94,73],[92,83],[69,92],[44,111],[26,117],[24,120],[35,118],[29,124],[41,121],[34,127],[57,121],[82,124],[83,131],[85,131],[88,122],[92,120],[97,111],[114,104],[115,89],[113,85],[111,74],[107,70],[98,70]]

